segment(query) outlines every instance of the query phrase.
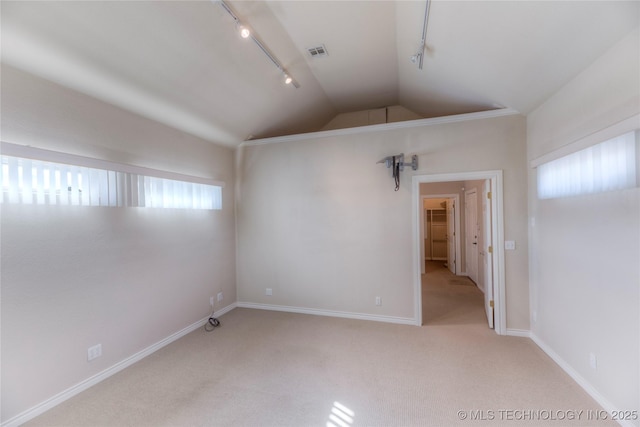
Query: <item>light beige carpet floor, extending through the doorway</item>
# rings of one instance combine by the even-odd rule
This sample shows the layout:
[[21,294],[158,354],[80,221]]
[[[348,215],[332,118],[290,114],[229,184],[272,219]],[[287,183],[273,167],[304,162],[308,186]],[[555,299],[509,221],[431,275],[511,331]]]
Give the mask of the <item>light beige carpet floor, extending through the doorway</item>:
[[423,327],[235,309],[27,425],[604,425],[531,340],[486,327],[477,288],[430,275]]

